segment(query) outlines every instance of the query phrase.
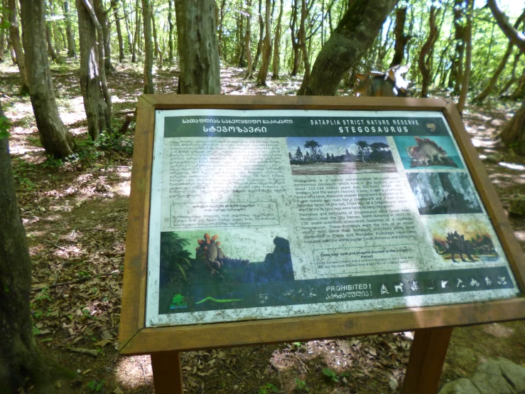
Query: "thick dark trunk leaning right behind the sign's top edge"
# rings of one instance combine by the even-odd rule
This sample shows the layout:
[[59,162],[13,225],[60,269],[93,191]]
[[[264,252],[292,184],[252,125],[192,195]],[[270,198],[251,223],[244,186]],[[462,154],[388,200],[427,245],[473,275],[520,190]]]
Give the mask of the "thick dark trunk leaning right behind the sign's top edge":
[[396,0],[354,0],[313,65],[305,95],[333,96],[342,77],[377,37]]

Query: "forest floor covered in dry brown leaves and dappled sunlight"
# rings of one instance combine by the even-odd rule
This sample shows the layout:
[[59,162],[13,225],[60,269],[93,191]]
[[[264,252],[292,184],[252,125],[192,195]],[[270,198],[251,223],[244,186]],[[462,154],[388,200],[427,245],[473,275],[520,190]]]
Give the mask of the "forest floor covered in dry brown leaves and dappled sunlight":
[[[109,75],[114,129],[136,106],[139,64],[116,65]],[[301,78],[271,87],[244,81],[238,68],[222,70],[229,95],[293,95]],[[153,393],[149,356],[117,352],[124,241],[134,123],[119,138],[87,138],[78,63],[53,65],[60,115],[80,146],[77,160],[47,159],[29,97],[18,95],[18,70],[0,65],[1,102],[11,120],[11,154],[18,203],[33,259],[31,310],[40,347],[78,378],[58,393]],[[156,74],[158,93],[176,91],[175,69]],[[350,95],[350,92],[341,92]],[[484,159],[505,208],[525,195],[525,158],[494,139],[516,103],[489,101],[467,107],[467,131]],[[494,160],[504,154],[504,161]],[[488,156],[488,159],[487,159]],[[501,160],[501,159],[500,159]],[[521,246],[525,218],[510,217]],[[412,333],[183,353],[187,393],[396,393],[406,371]],[[79,352],[84,353],[79,353]],[[91,353],[91,354],[87,354]],[[525,322],[457,328],[440,385],[467,376],[489,358],[525,363]],[[323,374],[330,368],[333,376]],[[28,389],[27,392],[31,392]]]

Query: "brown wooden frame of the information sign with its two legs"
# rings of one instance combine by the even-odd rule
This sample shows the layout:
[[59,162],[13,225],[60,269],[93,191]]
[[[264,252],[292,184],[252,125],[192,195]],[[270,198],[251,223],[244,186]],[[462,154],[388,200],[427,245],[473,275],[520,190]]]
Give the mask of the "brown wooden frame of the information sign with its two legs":
[[[119,346],[123,355],[152,355],[158,393],[182,393],[182,375],[178,356],[180,351],[363,336],[396,331],[416,331],[404,393],[423,392],[423,387],[425,393],[431,393],[437,389],[453,326],[525,319],[525,298],[517,297],[489,302],[376,312],[146,328],[148,225],[156,111],[210,108],[442,112],[458,142],[480,198],[485,204],[516,282],[521,292],[525,289],[524,253],[453,102],[443,99],[375,97],[142,95],[139,97],[135,132]],[[180,382],[175,388],[173,368],[177,368],[175,371],[178,371]]]

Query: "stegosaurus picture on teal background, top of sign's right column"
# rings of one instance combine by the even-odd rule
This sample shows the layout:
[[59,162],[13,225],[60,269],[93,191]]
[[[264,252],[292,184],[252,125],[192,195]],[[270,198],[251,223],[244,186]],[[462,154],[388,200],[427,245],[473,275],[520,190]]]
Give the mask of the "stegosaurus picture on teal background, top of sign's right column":
[[394,137],[405,169],[462,169],[450,137]]

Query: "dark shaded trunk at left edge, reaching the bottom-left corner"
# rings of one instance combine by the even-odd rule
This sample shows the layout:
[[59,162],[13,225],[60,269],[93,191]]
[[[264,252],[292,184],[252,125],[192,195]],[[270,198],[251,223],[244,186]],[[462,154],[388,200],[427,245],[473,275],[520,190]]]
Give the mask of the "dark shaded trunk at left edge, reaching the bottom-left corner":
[[7,138],[0,139],[0,184],[0,393],[18,393],[26,377],[40,380],[45,373],[29,312],[31,259]]

